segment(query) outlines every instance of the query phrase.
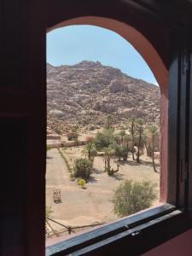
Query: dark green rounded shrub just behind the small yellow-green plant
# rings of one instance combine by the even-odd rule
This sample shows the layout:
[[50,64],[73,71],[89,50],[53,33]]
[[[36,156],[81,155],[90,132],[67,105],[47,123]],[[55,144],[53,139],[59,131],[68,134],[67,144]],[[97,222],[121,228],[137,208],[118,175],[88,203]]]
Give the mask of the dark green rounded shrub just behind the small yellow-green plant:
[[90,177],[92,172],[92,163],[85,158],[79,158],[74,161],[73,177],[81,177],[85,180]]

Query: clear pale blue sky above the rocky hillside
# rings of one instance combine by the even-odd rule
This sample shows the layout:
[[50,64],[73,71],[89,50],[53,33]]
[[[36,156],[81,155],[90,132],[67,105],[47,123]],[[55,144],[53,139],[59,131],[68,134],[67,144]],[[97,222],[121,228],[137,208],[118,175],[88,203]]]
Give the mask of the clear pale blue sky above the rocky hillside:
[[143,57],[119,34],[98,26],[66,26],[47,34],[47,62],[54,66],[100,61],[131,77],[157,84]]

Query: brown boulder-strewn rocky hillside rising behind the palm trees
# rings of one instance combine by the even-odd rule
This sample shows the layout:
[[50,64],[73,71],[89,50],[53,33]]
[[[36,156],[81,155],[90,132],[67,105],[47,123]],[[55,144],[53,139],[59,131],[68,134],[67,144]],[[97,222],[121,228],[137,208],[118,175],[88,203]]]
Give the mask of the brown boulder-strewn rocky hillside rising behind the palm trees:
[[111,114],[117,124],[131,115],[159,123],[159,88],[98,61],[60,67],[47,64],[47,96],[49,122],[103,125]]

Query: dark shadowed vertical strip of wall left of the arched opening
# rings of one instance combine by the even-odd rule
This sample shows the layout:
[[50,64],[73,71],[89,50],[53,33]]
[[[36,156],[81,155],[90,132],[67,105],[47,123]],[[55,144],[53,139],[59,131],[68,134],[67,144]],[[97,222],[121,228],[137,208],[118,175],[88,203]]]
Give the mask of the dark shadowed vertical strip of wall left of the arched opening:
[[44,255],[44,0],[0,1],[0,255]]

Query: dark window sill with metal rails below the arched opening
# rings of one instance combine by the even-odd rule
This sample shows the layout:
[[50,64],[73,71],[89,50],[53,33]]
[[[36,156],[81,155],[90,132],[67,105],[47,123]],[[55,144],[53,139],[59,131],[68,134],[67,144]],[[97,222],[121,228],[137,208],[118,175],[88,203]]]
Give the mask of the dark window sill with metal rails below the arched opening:
[[[179,226],[177,226],[176,229],[177,221],[179,221],[179,224],[182,224],[181,229]],[[155,232],[160,230],[163,237],[160,237],[160,234],[157,235],[157,233],[153,235],[153,231],[151,233],[152,235],[150,235],[151,242],[149,247],[153,247],[160,244],[160,241],[166,241],[166,238],[170,239],[170,236],[166,236],[168,235],[167,232],[166,235],[163,234],[163,230],[166,231],[164,224],[168,224],[168,226],[171,224],[172,227],[169,227],[170,230],[168,232],[171,237],[177,236],[179,230],[187,230],[187,227],[189,227],[189,221],[186,221],[183,212],[176,210],[176,208],[170,204],[165,204],[144,212],[138,212],[127,218],[119,219],[114,223],[106,224],[96,230],[90,230],[79,236],[74,236],[55,243],[52,246],[46,247],[46,256],[67,255],[68,253],[72,253],[72,255],[102,255],[99,251],[102,252],[102,250],[106,250],[106,248],[109,248],[109,245],[110,249],[112,249],[112,245],[120,244],[126,240],[126,246],[129,247],[128,240],[131,239],[132,247],[134,244],[132,241],[133,238],[135,241],[137,237],[139,239],[143,237],[142,239],[144,239],[144,233],[146,233],[146,231],[148,233],[149,230],[156,230]],[[144,239],[144,241],[147,240]],[[123,244],[120,247],[122,246]],[[145,245],[145,248],[148,248],[148,245]]]

